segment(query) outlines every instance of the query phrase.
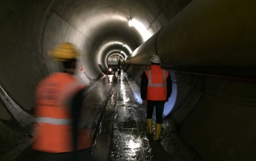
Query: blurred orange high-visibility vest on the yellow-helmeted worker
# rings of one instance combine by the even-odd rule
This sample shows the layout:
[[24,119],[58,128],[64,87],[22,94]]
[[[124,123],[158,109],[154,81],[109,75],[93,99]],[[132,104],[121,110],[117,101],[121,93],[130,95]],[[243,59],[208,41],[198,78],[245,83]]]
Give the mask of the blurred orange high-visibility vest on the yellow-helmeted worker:
[[[52,153],[73,151],[72,120],[68,102],[84,88],[67,73],[54,73],[40,82],[36,91],[35,137],[32,147]],[[86,129],[79,130],[78,150],[92,146]]]

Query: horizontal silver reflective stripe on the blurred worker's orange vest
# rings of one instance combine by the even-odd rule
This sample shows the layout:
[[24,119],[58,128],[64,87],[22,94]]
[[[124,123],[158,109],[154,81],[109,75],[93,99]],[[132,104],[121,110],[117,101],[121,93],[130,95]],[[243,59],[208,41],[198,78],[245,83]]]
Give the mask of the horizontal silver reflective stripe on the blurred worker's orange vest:
[[58,125],[69,125],[71,124],[72,120],[70,119],[56,119],[52,117],[37,117],[35,119],[36,123],[39,124],[58,124]]

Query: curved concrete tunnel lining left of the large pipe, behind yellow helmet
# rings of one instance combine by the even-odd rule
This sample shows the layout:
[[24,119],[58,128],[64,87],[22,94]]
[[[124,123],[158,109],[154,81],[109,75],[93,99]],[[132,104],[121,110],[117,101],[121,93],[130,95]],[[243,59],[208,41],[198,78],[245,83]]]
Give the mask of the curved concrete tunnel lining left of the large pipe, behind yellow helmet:
[[[6,39],[1,46],[0,84],[22,108],[30,111],[38,81],[61,68],[48,56],[49,49],[63,41],[77,45],[82,53],[77,75],[86,84],[91,84],[104,74],[110,53],[121,52],[120,43],[134,51],[146,41],[141,30],[128,26],[129,18],[140,22],[146,32],[153,35],[190,2],[1,1],[0,27],[5,32],[0,34]],[[131,53],[128,50],[122,51]]]

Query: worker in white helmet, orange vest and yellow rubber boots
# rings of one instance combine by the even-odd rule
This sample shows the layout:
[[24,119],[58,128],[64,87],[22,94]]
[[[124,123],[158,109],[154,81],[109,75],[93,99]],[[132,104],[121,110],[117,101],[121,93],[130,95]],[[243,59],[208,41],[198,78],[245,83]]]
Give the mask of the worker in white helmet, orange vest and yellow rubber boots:
[[141,97],[142,104],[146,108],[146,120],[148,134],[152,135],[152,115],[153,108],[156,107],[156,127],[155,139],[159,140],[162,128],[162,113],[166,100],[170,97],[172,91],[172,82],[168,71],[161,68],[160,57],[153,55],[150,59],[150,69],[142,73]]

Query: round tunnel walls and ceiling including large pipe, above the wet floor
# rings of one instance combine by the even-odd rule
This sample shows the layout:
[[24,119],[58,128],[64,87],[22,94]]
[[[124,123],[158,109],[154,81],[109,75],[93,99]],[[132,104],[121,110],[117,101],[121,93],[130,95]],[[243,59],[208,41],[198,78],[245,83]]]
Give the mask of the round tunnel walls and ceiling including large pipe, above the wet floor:
[[108,57],[121,57],[123,72],[139,86],[157,54],[173,82],[163,118],[175,121],[199,158],[256,159],[255,1],[0,4],[0,160],[14,160],[26,148],[21,140],[33,138],[34,91],[43,77],[60,70],[48,52],[63,41],[81,53],[75,77],[92,88],[107,77]]

